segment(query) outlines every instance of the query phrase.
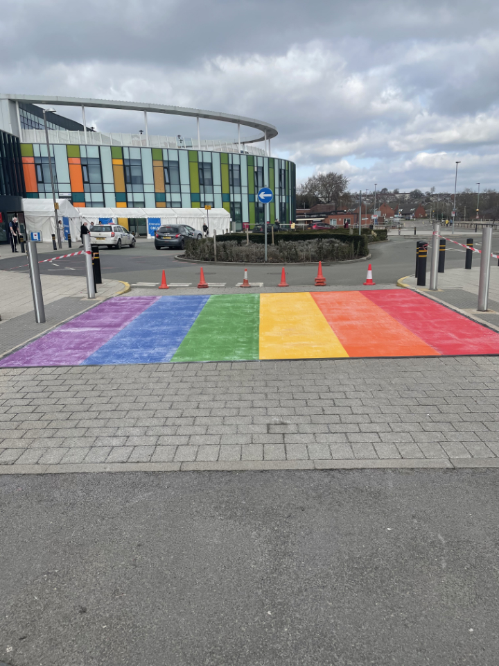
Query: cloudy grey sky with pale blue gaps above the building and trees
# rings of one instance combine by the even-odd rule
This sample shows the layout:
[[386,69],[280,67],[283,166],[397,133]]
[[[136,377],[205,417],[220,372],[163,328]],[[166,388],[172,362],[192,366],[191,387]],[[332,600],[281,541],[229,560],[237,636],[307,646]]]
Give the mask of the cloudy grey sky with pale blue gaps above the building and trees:
[[[499,189],[498,26],[496,0],[0,0],[0,90],[263,119],[299,180],[453,191],[461,160],[458,190]],[[88,110],[92,123],[143,120]],[[195,136],[195,121],[153,116],[149,131]]]

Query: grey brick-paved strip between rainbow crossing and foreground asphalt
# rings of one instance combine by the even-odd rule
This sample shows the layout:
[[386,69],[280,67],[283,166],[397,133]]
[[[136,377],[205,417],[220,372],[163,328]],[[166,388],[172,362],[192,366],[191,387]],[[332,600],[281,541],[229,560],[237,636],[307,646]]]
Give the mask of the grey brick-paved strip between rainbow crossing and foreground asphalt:
[[498,357],[3,368],[2,472],[499,466]]

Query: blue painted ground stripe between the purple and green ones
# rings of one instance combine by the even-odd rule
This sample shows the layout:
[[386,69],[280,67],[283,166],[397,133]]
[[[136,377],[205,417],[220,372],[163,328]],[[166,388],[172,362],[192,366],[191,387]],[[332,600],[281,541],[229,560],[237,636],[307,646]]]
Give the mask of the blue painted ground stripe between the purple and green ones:
[[114,366],[170,361],[208,299],[209,296],[159,298],[82,365]]

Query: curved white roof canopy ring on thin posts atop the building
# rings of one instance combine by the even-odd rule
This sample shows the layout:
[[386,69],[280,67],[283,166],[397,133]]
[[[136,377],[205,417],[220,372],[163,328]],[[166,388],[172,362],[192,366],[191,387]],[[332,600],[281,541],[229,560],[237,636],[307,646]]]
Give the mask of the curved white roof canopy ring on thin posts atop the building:
[[100,109],[122,109],[125,111],[147,111],[150,113],[167,113],[175,116],[189,116],[192,118],[206,118],[208,120],[218,120],[225,123],[234,123],[244,127],[251,127],[260,130],[262,137],[256,139],[244,139],[244,143],[261,141],[265,135],[267,139],[277,137],[277,128],[270,123],[264,123],[261,120],[246,118],[245,116],[235,116],[231,113],[222,113],[219,111],[205,111],[202,109],[191,109],[182,106],[168,106],[165,104],[147,104],[143,102],[123,102],[112,99],[89,99],[86,97],[51,97],[49,95],[17,95],[0,94],[0,99],[8,99],[12,102],[24,102],[27,104],[44,105],[62,105],[62,106],[85,106],[96,107]]

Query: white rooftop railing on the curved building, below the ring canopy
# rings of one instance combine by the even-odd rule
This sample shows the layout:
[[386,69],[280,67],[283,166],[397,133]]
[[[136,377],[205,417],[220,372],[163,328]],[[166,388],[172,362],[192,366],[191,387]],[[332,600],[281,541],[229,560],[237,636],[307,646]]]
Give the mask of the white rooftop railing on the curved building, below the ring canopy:
[[[45,130],[22,130],[21,143],[44,144]],[[79,130],[49,130],[49,143],[51,144],[76,144],[79,146],[132,146],[143,148],[175,148],[180,150],[200,150],[215,153],[238,153],[239,146],[234,142],[219,141],[218,139],[198,139],[191,137],[163,137],[159,135],[81,132]],[[241,144],[240,152],[243,155],[265,155],[262,148]]]

